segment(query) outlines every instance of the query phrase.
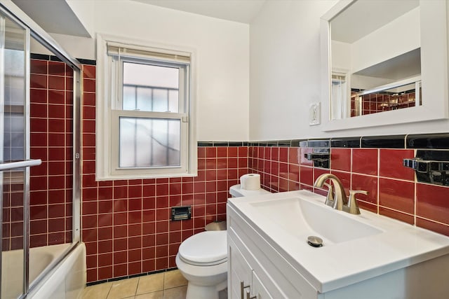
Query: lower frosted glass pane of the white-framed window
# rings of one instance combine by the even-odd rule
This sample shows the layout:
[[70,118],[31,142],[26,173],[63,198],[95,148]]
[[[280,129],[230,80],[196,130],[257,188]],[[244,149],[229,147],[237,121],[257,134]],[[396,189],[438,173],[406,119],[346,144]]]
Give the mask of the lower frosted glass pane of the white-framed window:
[[120,118],[119,167],[180,166],[180,120]]

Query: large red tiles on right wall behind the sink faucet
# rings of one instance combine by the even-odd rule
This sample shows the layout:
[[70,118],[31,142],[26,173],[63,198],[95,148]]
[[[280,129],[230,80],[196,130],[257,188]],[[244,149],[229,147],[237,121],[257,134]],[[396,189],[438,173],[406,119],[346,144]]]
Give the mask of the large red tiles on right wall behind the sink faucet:
[[314,188],[316,178],[326,172],[340,178],[347,193],[358,195],[362,209],[396,218],[449,236],[449,187],[415,182],[413,169],[402,166],[414,150],[384,148],[330,148],[330,169],[314,167],[304,158],[312,148],[252,146],[249,171],[261,174],[265,189],[272,192]]

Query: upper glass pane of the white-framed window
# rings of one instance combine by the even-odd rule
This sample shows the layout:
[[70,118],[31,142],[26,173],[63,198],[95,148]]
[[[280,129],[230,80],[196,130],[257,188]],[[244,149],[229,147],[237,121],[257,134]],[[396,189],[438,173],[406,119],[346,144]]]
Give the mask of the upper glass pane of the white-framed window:
[[179,74],[175,67],[123,62],[123,110],[177,113]]

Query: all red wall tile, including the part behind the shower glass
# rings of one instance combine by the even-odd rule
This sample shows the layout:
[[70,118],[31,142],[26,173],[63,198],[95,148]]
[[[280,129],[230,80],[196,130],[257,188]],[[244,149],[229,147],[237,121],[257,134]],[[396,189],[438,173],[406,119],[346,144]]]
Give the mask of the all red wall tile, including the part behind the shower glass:
[[[198,148],[198,176],[95,181],[95,67],[83,66],[81,238],[88,282],[175,267],[180,243],[206,223],[226,218],[229,187],[248,172],[272,192],[307,189],[327,172],[358,195],[362,209],[449,235],[449,188],[416,183],[402,167],[413,150],[331,148],[330,169],[304,158],[312,148]],[[69,242],[72,235],[72,71],[62,62],[32,60],[32,246]],[[4,250],[22,246],[20,184],[6,182]],[[170,221],[170,207],[192,205],[192,219]],[[5,244],[8,244],[7,246]],[[7,248],[5,248],[5,246]]]

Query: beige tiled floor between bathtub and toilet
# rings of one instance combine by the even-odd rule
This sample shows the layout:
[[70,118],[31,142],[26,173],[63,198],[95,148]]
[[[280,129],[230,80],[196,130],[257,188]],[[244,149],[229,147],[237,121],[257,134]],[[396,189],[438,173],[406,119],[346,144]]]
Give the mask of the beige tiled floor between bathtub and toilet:
[[88,286],[81,299],[185,299],[187,280],[179,270]]

